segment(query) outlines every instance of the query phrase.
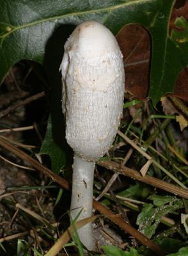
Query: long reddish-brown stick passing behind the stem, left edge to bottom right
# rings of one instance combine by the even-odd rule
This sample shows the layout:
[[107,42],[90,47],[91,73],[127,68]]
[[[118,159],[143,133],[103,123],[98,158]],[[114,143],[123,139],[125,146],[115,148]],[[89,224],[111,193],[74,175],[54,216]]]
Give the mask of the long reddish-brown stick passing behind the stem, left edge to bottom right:
[[[27,163],[29,163],[29,164],[31,164],[31,166],[35,167],[36,170],[39,170],[40,172],[42,172],[47,177],[51,178],[54,182],[58,183],[63,188],[70,189],[70,186],[68,185],[67,180],[59,177],[59,175],[57,175],[56,173],[53,173],[51,170],[49,170],[45,166],[38,163],[38,161],[33,159],[33,157],[30,157],[26,153],[22,152],[22,150],[20,150],[19,148],[14,147],[13,145],[8,143],[6,140],[4,140],[1,137],[0,137],[0,145],[2,147],[6,148],[7,150],[13,152],[13,154],[15,154],[20,159],[22,159],[24,161],[27,161]],[[188,195],[187,195],[187,198],[188,198]],[[129,224],[125,223],[125,221],[123,221],[123,218],[121,218],[120,216],[117,216],[116,214],[114,214],[114,212],[108,210],[106,207],[104,207],[102,204],[100,204],[99,202],[97,202],[95,200],[93,200],[93,206],[95,207],[95,209],[100,211],[102,214],[107,215],[107,217],[110,220],[115,221],[116,224],[120,228],[122,228],[123,230],[128,232],[131,236],[136,237],[136,239],[138,241],[143,243],[145,246],[148,246],[148,248],[153,250],[153,252],[157,253],[157,255],[159,255],[159,256],[163,255],[163,253],[161,252],[161,248],[159,246],[157,246],[155,243],[153,243],[152,240],[148,239],[146,236],[141,234],[141,232],[137,231],[135,228],[133,228]]]

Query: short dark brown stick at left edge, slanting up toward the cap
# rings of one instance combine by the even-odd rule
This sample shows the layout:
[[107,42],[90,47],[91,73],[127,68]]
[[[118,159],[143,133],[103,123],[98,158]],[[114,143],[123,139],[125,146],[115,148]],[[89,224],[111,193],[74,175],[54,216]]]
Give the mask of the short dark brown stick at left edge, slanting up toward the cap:
[[43,96],[45,96],[45,92],[40,92],[40,93],[37,93],[37,94],[35,94],[35,95],[25,99],[25,100],[22,100],[20,102],[17,102],[15,104],[13,104],[9,108],[6,108],[6,109],[4,109],[0,112],[0,118],[10,114],[15,109],[20,108],[21,106],[24,106],[24,105],[30,103],[31,101],[38,100],[38,99],[42,98]]

